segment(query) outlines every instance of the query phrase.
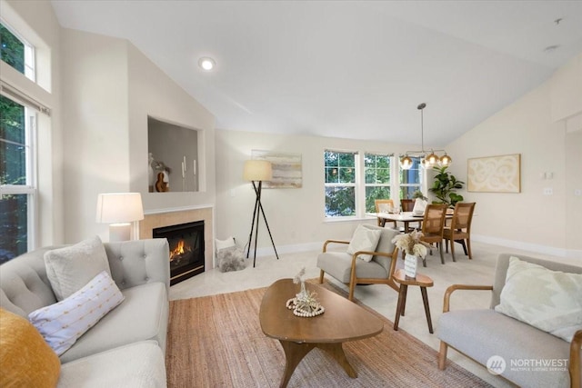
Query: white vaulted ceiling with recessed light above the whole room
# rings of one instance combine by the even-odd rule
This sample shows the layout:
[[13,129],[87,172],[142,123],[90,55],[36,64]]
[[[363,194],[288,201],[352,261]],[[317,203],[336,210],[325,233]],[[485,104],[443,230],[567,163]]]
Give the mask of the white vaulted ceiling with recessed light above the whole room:
[[[582,1],[53,0],[129,40],[221,129],[445,145],[582,53]],[[199,58],[216,68],[206,72]]]

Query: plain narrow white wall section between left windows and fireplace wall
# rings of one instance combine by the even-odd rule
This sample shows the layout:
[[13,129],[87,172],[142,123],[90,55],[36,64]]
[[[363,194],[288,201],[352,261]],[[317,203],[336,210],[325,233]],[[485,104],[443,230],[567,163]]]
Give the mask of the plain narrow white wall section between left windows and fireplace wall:
[[65,243],[99,234],[97,194],[130,191],[127,42],[62,30]]

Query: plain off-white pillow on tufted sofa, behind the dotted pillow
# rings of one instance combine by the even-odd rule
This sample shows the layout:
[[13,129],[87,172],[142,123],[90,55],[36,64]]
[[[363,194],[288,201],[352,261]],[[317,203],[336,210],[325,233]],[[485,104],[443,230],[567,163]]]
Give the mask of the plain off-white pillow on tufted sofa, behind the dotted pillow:
[[98,236],[45,253],[46,276],[62,301],[105,271],[111,275],[105,246]]

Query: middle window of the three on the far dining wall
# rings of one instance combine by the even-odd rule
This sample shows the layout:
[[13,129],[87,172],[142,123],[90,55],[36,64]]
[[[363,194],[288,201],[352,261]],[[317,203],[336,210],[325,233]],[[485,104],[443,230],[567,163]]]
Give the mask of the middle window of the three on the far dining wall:
[[376,199],[390,198],[391,154],[364,154],[366,212],[376,212]]

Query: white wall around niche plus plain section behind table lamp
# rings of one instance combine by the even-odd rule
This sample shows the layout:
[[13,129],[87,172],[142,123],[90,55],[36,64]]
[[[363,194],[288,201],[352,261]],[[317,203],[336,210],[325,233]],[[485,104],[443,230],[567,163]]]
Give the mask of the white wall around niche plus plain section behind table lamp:
[[[62,35],[65,242],[108,240],[108,226],[95,223],[99,193],[140,192],[146,213],[214,205],[214,116],[127,41]],[[201,192],[148,193],[148,114],[201,130]]]

